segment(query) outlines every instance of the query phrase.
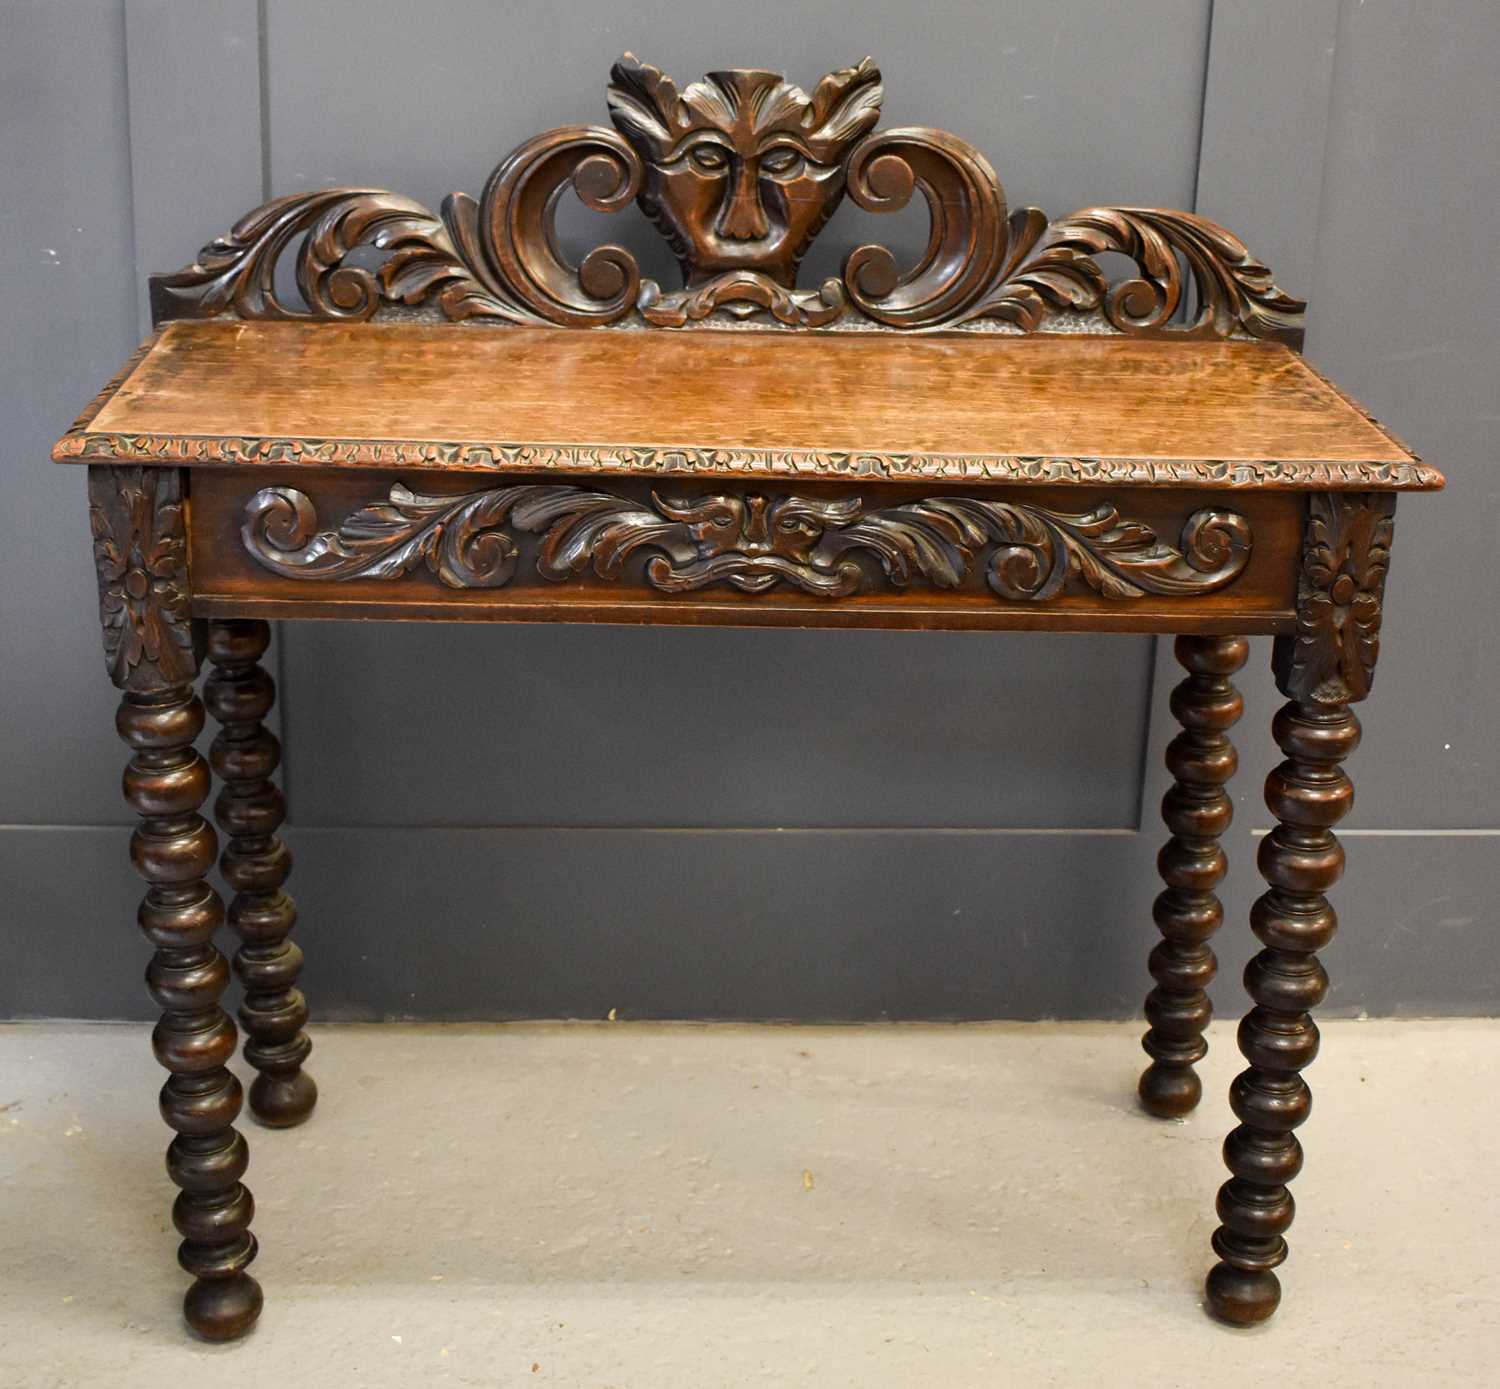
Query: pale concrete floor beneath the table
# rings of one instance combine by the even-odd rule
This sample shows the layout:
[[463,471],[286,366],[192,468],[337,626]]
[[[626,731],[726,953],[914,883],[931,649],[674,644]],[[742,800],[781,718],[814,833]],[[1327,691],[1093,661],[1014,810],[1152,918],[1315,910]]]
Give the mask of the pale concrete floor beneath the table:
[[0,1384],[1492,1384],[1500,1023],[1324,1029],[1276,1320],[1198,1286],[1236,1070],[1137,1024],[322,1028],[267,1293],[188,1338],[136,1026],[0,1028]]

